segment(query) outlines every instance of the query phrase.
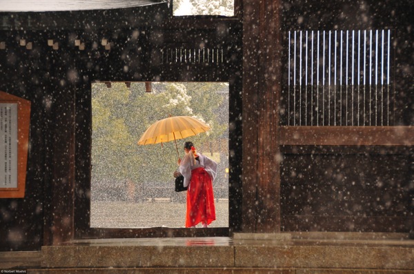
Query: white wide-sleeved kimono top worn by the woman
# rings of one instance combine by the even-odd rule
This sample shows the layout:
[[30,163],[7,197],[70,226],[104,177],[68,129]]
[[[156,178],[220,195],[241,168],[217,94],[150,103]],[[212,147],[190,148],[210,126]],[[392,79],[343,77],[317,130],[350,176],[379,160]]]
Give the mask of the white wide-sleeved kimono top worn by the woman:
[[179,164],[179,173],[184,176],[184,187],[190,184],[191,179],[191,170],[195,168],[204,168],[208,175],[211,177],[211,182],[214,182],[214,179],[217,175],[217,163],[207,156],[197,153],[199,161],[193,160],[192,152],[186,153],[184,159],[182,159],[181,164]]

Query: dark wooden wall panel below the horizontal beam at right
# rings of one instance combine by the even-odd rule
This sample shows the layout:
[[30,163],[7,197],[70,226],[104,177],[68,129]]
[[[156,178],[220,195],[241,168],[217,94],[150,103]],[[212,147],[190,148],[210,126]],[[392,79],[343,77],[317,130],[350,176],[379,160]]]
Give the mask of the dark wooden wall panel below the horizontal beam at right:
[[[408,233],[413,218],[411,154],[371,148],[356,148],[358,154],[315,150],[284,155],[280,170],[284,230]],[[400,217],[400,224],[395,226],[388,217]]]

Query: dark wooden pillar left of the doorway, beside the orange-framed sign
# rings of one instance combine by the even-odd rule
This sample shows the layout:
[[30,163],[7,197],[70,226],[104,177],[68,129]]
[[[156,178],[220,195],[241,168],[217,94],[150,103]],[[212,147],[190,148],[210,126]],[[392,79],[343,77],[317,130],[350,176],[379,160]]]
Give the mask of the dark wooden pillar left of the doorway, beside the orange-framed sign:
[[[50,182],[47,184],[44,245],[57,245],[74,239],[75,190],[75,85],[67,73],[67,56],[50,54],[50,96],[45,99],[49,112]],[[65,70],[56,69],[61,66]]]

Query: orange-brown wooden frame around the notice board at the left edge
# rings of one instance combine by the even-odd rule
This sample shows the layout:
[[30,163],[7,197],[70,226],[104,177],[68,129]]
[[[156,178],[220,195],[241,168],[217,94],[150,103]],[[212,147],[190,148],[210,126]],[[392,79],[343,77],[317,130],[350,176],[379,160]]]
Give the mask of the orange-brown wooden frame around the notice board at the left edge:
[[0,103],[17,104],[17,188],[1,188],[0,198],[23,198],[28,163],[30,101],[0,91]]

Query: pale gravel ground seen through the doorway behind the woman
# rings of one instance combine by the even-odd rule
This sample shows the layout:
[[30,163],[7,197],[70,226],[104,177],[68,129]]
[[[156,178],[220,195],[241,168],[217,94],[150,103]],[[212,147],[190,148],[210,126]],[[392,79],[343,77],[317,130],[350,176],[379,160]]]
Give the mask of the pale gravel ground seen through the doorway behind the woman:
[[[219,199],[215,207],[217,219],[210,227],[227,227],[228,199]],[[185,226],[185,219],[185,203],[163,199],[140,203],[92,201],[90,205],[90,226],[95,228],[179,228]]]

